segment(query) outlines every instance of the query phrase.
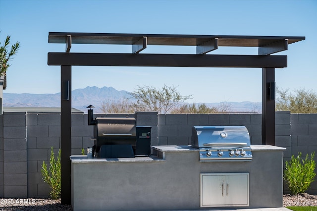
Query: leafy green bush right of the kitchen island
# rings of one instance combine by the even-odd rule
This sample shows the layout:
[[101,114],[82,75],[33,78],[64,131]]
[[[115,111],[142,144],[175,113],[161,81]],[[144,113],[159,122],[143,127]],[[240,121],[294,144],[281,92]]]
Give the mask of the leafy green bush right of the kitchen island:
[[311,158],[308,158],[308,154],[305,159],[301,159],[301,156],[302,153],[298,153],[297,157],[292,155],[291,160],[285,162],[284,180],[293,195],[307,191],[316,176],[315,152],[311,154]]

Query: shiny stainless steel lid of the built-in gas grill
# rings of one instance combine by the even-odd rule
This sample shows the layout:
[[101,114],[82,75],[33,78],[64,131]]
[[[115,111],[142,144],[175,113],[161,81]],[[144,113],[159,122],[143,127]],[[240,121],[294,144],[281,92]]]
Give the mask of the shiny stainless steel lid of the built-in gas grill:
[[245,126],[194,126],[192,128],[192,147],[250,147],[250,135]]

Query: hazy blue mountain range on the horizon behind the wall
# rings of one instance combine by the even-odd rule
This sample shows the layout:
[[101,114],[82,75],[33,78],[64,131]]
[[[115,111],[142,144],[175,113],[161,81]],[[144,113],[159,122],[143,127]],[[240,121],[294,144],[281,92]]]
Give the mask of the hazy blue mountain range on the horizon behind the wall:
[[[118,91],[113,87],[86,87],[84,89],[73,90],[72,107],[86,112],[87,106],[95,106],[95,111],[100,112],[100,107],[107,100],[129,98],[128,91]],[[199,103],[198,103],[199,104]],[[224,103],[205,103],[207,106],[219,107]],[[253,102],[225,102],[230,105],[231,111],[256,111],[261,112],[261,103]],[[3,106],[6,107],[60,107],[60,93],[56,94],[13,94],[3,93]]]

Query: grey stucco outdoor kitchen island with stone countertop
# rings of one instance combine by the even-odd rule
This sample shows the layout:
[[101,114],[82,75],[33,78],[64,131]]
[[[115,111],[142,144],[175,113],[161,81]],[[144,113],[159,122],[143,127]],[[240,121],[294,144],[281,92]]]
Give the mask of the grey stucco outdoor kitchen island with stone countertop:
[[[191,146],[152,146],[153,155],[145,158],[71,156],[72,207],[74,211],[282,207],[286,149],[269,145],[251,147],[252,161],[200,162],[199,149]],[[241,175],[246,183],[240,184]],[[237,176],[238,184],[221,189],[221,184],[213,186],[215,183],[206,177],[202,185],[202,176],[223,177],[225,186],[229,178]],[[227,191],[226,188],[229,195],[243,195],[243,202],[234,205],[203,202],[205,206],[201,206],[203,198],[206,202],[209,194]]]

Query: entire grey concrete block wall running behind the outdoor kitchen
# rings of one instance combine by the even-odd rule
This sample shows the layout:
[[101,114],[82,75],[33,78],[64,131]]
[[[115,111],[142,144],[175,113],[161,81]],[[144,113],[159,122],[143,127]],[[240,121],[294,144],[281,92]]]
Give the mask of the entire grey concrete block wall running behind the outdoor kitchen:
[[[95,117],[135,117],[138,126],[152,126],[152,145],[190,145],[194,125],[245,125],[252,144],[262,144],[261,114],[95,114]],[[317,151],[317,114],[275,115],[276,146],[285,147],[284,159]],[[0,197],[48,197],[41,165],[49,162],[51,147],[60,147],[60,114],[4,112],[0,115]],[[72,114],[72,155],[93,146],[93,126],[87,114]],[[315,157],[316,158],[316,157]],[[284,186],[287,193],[287,187]],[[309,190],[317,194],[317,182]]]

